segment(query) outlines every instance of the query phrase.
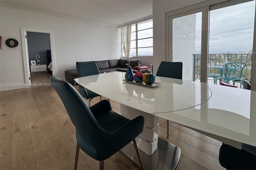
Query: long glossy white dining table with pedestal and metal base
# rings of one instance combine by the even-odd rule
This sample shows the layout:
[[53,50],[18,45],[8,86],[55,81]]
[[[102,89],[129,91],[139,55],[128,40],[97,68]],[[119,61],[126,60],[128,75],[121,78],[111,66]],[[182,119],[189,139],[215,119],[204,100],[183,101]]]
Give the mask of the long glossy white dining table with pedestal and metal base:
[[[255,91],[158,76],[155,82],[159,85],[148,87],[123,81],[124,74],[114,71],[74,80],[120,103],[123,116],[145,117],[143,132],[136,141],[142,150],[142,162],[150,162],[147,169],[174,169],[180,158],[178,146],[158,137],[160,118],[239,149],[242,143],[256,146]],[[126,146],[122,152],[138,164],[131,147]]]

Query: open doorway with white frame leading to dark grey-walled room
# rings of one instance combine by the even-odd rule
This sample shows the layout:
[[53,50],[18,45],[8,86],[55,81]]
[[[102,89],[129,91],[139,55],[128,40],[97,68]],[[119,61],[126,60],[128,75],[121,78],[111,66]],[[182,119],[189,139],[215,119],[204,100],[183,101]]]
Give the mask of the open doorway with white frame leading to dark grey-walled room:
[[21,28],[21,35],[26,84],[48,83],[38,81],[56,71],[53,31]]

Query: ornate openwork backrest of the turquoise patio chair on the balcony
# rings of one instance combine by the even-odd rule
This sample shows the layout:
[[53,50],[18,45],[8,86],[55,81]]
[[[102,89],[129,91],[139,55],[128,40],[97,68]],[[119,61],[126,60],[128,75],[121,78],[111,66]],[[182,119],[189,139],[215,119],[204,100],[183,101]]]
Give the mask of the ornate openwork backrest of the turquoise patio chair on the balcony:
[[225,71],[224,75],[226,78],[241,79],[242,71],[245,66],[246,66],[246,64],[241,63],[241,62],[226,63],[226,65],[225,65],[226,71]]

